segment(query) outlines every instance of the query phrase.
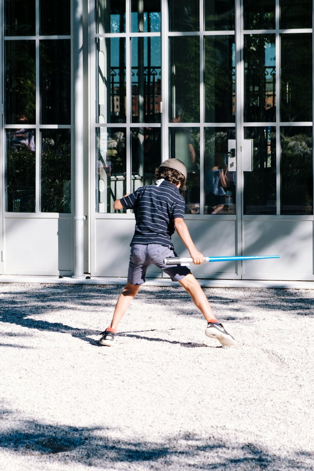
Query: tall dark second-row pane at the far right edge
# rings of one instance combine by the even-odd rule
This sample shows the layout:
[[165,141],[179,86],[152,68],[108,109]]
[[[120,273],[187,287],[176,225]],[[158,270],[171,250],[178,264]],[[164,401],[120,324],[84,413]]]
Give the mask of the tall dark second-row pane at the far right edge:
[[281,121],[312,121],[312,34],[281,35]]

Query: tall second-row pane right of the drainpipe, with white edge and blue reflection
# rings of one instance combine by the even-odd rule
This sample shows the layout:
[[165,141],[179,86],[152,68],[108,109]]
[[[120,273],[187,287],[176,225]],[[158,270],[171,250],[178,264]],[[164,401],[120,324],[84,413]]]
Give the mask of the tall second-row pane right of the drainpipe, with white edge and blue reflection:
[[126,122],[125,38],[98,38],[97,64],[97,122]]

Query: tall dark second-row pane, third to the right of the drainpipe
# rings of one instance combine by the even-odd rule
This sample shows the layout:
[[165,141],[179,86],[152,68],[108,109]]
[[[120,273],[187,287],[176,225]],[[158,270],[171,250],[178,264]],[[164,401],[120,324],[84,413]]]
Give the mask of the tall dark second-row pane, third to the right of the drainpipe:
[[169,103],[172,122],[200,122],[200,38],[170,37]]

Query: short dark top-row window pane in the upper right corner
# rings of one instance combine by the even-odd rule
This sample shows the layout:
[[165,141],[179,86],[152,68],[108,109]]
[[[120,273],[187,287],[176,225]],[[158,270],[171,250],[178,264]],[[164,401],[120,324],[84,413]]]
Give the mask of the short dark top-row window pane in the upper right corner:
[[279,0],[280,28],[312,28],[312,0]]

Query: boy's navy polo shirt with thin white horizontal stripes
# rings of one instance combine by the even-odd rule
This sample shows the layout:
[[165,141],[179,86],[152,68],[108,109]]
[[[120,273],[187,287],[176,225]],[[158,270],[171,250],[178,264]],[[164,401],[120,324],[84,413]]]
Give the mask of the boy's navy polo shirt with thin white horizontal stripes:
[[135,233],[130,245],[173,247],[170,238],[175,232],[174,219],[184,219],[185,200],[173,183],[159,182],[137,188],[131,195],[120,199],[123,208],[133,208],[135,213]]

